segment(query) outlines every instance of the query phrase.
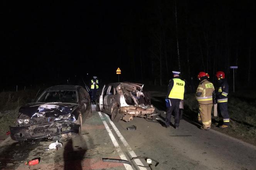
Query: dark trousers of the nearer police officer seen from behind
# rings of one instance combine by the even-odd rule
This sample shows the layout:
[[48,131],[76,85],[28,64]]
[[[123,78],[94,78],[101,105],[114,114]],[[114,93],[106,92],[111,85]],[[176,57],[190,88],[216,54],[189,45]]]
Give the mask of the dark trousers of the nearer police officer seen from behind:
[[165,125],[170,126],[171,123],[171,116],[172,116],[172,111],[174,111],[174,125],[175,127],[178,127],[180,124],[180,99],[177,98],[169,98],[171,102],[171,107],[167,108],[167,113],[166,113],[166,118],[165,118]]

